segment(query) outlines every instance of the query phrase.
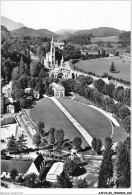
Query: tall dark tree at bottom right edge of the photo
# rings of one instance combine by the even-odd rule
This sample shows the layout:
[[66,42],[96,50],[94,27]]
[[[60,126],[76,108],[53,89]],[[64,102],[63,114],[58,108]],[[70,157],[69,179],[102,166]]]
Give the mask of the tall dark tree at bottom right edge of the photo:
[[126,139],[120,145],[115,159],[115,169],[117,175],[117,188],[129,188],[131,185],[130,174],[130,139]]

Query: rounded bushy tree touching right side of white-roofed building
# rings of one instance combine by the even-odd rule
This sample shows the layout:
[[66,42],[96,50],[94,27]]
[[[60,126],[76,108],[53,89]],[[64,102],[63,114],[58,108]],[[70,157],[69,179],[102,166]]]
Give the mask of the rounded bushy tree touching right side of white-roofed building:
[[67,174],[67,175],[73,175],[76,168],[77,168],[77,165],[70,158],[68,158],[64,162],[64,172],[65,172],[65,174]]

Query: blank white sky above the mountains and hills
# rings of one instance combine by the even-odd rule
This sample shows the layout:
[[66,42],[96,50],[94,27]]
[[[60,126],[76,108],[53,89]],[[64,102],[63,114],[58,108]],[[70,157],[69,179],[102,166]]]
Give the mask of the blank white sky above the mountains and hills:
[[1,1],[1,15],[34,29],[131,30],[130,1]]

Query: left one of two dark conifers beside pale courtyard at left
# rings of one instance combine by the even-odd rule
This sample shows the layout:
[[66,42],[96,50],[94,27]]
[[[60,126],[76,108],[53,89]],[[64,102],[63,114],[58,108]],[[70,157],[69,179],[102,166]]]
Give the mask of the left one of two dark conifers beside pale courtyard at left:
[[8,143],[7,143],[7,151],[8,152],[16,152],[18,150],[17,148],[17,141],[15,137],[12,135],[9,137]]

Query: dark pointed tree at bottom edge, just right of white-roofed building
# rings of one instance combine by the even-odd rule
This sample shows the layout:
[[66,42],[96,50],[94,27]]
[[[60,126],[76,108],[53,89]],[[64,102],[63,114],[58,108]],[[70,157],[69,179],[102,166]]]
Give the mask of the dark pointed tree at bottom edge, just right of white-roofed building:
[[64,172],[60,176],[57,176],[57,188],[72,188],[72,182],[67,174]]

